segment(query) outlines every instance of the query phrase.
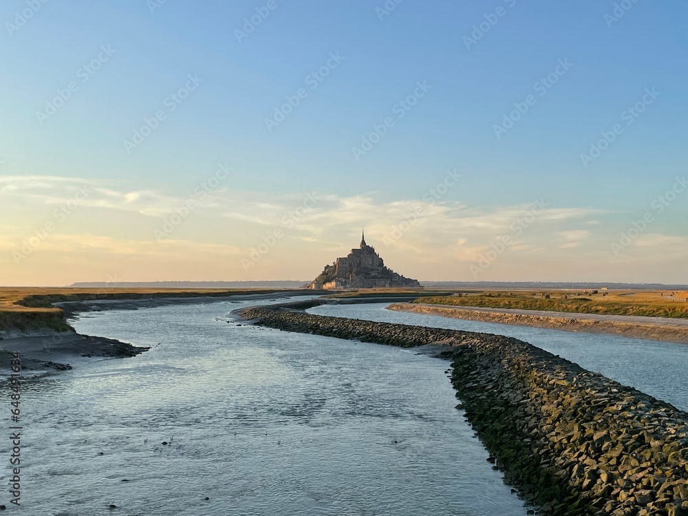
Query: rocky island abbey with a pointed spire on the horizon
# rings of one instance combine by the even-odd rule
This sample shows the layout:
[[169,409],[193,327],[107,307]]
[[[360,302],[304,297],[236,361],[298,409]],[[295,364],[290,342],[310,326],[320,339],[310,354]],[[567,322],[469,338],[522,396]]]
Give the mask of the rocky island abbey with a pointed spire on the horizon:
[[365,243],[361,232],[361,244],[352,249],[348,256],[337,258],[332,265],[326,265],[308,288],[315,290],[343,290],[345,288],[394,288],[420,287],[416,279],[403,277],[385,266],[375,248]]

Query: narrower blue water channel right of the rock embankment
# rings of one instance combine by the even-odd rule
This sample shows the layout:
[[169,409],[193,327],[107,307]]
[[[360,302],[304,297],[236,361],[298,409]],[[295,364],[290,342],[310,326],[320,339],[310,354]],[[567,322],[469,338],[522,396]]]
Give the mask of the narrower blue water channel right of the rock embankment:
[[688,410],[688,345],[605,334],[464,321],[386,310],[389,303],[321,305],[313,314],[485,332],[520,338],[550,353]]

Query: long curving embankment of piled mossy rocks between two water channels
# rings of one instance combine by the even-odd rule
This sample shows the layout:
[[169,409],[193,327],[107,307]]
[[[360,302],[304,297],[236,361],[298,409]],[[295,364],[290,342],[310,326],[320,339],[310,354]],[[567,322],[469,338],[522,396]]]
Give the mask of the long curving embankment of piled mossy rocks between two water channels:
[[539,512],[688,516],[688,413],[506,336],[248,308],[257,325],[402,347],[445,345],[495,468]]

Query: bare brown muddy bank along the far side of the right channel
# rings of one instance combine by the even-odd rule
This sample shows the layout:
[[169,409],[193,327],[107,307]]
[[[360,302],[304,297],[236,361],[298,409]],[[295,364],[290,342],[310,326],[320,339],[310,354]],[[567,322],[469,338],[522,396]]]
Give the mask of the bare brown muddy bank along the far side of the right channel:
[[605,333],[630,338],[647,338],[688,344],[688,319],[641,317],[625,315],[571,314],[536,312],[505,308],[440,306],[422,303],[395,303],[389,310],[438,315],[484,323],[536,326],[567,332]]

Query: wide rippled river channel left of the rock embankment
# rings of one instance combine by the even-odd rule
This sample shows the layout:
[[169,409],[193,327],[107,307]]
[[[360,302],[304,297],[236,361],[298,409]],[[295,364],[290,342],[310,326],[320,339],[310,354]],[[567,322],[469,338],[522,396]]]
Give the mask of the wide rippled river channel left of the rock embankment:
[[161,345],[23,386],[18,512],[526,513],[454,408],[447,362],[226,316],[247,304],[77,321],[81,333]]

